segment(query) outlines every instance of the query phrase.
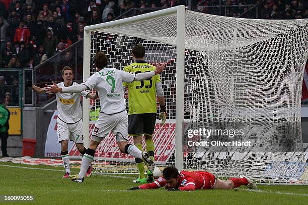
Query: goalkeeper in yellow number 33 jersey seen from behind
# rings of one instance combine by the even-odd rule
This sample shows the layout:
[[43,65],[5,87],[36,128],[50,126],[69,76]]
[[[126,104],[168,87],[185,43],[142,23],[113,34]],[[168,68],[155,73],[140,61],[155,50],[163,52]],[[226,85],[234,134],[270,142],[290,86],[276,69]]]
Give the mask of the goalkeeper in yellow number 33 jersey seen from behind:
[[[155,66],[148,64],[144,60],[145,48],[137,44],[132,49],[134,63],[124,67],[125,72],[144,73],[155,70]],[[158,96],[161,113],[159,119],[162,125],[166,122],[166,103],[162,87],[162,81],[159,75],[155,75],[140,82],[124,82],[128,87],[128,135],[133,136],[134,145],[142,151],[142,135],[144,135],[145,149],[154,160],[155,147],[152,135],[156,124],[156,95]],[[144,176],[143,161],[135,158],[139,177],[133,182],[152,182],[153,174],[148,171],[147,179]]]

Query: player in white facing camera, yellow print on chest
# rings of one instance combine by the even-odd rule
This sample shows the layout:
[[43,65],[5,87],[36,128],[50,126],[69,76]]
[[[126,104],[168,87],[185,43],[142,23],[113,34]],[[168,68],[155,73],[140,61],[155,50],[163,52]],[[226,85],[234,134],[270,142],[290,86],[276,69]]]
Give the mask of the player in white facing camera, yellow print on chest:
[[[64,82],[57,84],[58,87],[68,87],[71,85],[78,85],[73,82],[73,70],[69,66],[64,66],[62,70],[62,78]],[[46,93],[46,90],[41,87],[37,87],[28,83],[29,87],[32,87],[37,93]],[[98,96],[95,93],[89,91],[81,91],[78,93],[56,93],[58,119],[57,119],[57,133],[58,140],[61,143],[61,157],[63,166],[65,168],[65,174],[62,178],[68,178],[70,174],[69,169],[69,155],[68,155],[68,140],[75,142],[77,149],[82,155],[86,153],[84,147],[83,137],[83,122],[82,122],[82,107],[80,104],[81,96],[85,96],[91,99],[96,99]],[[90,177],[92,174],[92,165],[87,169],[86,176]]]

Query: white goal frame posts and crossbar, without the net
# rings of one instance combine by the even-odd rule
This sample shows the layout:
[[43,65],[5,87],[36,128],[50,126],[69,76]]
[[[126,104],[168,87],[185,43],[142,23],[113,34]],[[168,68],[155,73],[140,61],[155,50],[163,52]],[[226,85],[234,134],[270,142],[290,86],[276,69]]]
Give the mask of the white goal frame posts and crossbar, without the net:
[[[126,19],[120,19],[113,22],[86,26],[84,28],[84,73],[83,79],[90,77],[90,36],[91,32],[108,28],[115,25],[129,24],[140,20],[151,19],[169,14],[177,14],[177,85],[176,85],[176,144],[175,144],[175,165],[179,170],[183,170],[183,152],[182,152],[182,122],[184,121],[184,61],[185,61],[185,11],[186,7],[181,5],[165,10],[151,12],[139,16],[134,16]],[[89,146],[89,99],[83,98],[83,135],[84,145]]]

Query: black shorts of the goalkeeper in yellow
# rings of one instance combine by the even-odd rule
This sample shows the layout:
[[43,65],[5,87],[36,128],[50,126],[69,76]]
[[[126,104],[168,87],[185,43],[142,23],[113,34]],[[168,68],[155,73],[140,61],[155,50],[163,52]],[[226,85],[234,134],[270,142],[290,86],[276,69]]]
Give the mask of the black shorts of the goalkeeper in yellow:
[[153,135],[156,113],[143,113],[128,116],[128,135]]

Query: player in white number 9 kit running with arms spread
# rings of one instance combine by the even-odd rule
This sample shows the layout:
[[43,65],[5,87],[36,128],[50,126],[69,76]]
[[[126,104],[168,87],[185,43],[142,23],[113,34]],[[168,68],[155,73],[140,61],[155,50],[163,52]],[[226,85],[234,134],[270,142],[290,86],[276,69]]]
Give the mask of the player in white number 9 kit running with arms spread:
[[164,71],[165,63],[158,65],[155,71],[144,73],[127,73],[114,68],[107,68],[108,59],[103,52],[98,52],[94,56],[94,64],[97,68],[86,82],[80,85],[70,87],[58,87],[57,84],[45,85],[44,89],[49,92],[81,92],[86,89],[96,88],[101,102],[101,111],[92,136],[84,155],[81,170],[78,175],[71,175],[69,178],[73,181],[82,183],[84,181],[87,166],[94,159],[97,146],[111,131],[116,136],[117,144],[122,153],[133,155],[142,159],[150,171],[154,169],[154,163],[147,152],[141,152],[135,145],[128,144],[128,116],[125,108],[124,91],[122,83],[140,81],[150,78]]

